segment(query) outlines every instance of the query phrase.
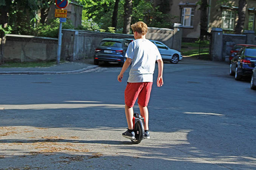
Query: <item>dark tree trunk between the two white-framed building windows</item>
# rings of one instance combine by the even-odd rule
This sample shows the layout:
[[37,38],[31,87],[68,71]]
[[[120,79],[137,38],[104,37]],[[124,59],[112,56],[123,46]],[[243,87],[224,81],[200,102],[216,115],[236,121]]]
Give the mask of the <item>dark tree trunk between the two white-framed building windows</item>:
[[208,3],[207,0],[201,0],[200,6],[200,39],[204,35],[208,35],[208,21],[207,21],[207,8]]

